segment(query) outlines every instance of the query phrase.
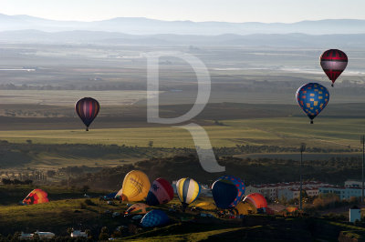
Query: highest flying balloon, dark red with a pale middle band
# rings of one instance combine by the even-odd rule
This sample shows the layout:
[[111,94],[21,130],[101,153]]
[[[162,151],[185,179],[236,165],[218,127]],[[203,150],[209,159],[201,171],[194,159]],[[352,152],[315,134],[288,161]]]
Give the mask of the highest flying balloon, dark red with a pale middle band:
[[338,49],[328,49],[320,55],[320,66],[332,81],[332,87],[336,79],[348,66],[348,56]]

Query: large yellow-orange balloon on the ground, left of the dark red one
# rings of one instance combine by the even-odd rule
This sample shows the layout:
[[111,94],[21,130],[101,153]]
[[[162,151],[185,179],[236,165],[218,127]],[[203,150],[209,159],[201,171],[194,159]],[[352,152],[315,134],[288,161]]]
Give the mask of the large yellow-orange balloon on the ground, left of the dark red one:
[[126,202],[138,202],[147,197],[150,187],[150,180],[146,174],[132,170],[124,176],[123,185],[116,198]]

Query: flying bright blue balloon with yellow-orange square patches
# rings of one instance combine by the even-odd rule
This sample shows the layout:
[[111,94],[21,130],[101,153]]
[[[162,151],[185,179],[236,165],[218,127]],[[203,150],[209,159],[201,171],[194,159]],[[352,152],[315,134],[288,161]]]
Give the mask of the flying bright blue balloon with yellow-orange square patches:
[[318,83],[308,83],[297,89],[297,103],[313,124],[313,118],[325,108],[329,101],[328,89]]

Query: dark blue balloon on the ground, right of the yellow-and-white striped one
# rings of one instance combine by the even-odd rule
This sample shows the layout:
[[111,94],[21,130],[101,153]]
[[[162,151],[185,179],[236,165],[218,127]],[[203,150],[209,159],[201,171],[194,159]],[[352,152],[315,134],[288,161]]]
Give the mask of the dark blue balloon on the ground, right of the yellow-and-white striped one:
[[213,184],[215,205],[219,208],[233,208],[245,194],[244,182],[235,176],[221,176]]

